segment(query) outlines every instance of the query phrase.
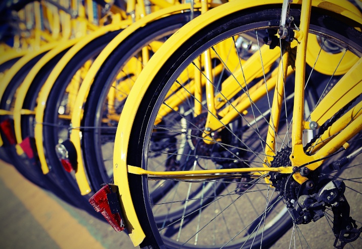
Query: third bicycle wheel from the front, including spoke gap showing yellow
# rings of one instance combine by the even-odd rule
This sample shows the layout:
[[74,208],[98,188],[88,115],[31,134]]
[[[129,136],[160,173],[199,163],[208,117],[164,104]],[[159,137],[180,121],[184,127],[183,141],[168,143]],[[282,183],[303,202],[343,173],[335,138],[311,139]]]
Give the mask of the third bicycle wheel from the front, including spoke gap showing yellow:
[[[66,67],[58,75],[46,100],[43,124],[43,146],[46,162],[49,166],[48,175],[56,182],[59,189],[71,196],[74,203],[92,215],[98,216],[88,203],[88,196],[81,196],[78,184],[72,173],[67,172],[57,157],[56,145],[68,139],[70,117],[75,98],[92,61],[99,52],[119,33],[109,32],[97,37],[82,47],[68,61]],[[59,60],[58,60],[59,61]],[[34,127],[29,127],[34,133]]]

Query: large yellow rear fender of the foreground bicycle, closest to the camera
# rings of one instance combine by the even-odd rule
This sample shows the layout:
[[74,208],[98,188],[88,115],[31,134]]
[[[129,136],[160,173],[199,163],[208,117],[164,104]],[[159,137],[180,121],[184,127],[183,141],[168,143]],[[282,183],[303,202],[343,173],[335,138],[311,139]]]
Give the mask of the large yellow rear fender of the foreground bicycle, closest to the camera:
[[[212,9],[201,16],[195,18],[194,21],[189,22],[182,27],[177,33],[169,38],[162,48],[157,51],[151,58],[148,66],[142,70],[137,78],[123,108],[120,122],[118,124],[116,140],[113,154],[113,170],[114,182],[119,187],[120,198],[122,201],[123,217],[126,227],[131,228],[128,230],[130,238],[135,246],[139,245],[144,238],[144,233],[139,225],[139,220],[135,215],[134,206],[130,196],[130,189],[128,185],[128,141],[130,140],[130,133],[134,122],[137,109],[140,105],[143,95],[145,94],[149,82],[157,74],[160,65],[165,64],[166,60],[172,55],[176,48],[183,44],[189,37],[197,33],[205,25],[212,23],[220,18],[233,14],[234,12],[248,9],[251,7],[264,6],[270,4],[282,4],[282,0],[245,0],[245,1],[232,1],[221,5],[218,8]],[[301,0],[294,0],[293,4],[301,4]],[[316,0],[312,5],[322,9],[330,10],[332,12],[346,16],[352,20],[362,24],[360,15],[355,14],[341,6],[347,6],[348,2],[339,0],[331,0],[329,2]],[[345,3],[344,3],[345,2]],[[137,165],[136,165],[137,166]]]

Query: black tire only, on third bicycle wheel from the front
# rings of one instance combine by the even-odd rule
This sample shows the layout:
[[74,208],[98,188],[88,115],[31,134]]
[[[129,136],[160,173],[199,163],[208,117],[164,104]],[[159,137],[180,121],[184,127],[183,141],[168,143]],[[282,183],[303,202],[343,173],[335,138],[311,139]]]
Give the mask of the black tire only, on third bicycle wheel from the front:
[[[46,107],[44,110],[44,123],[43,141],[44,153],[46,161],[49,166],[48,176],[57,185],[62,195],[68,196],[74,205],[81,208],[97,218],[101,218],[98,213],[89,205],[89,195],[82,196],[79,191],[79,186],[74,178],[74,175],[68,173],[63,168],[60,160],[56,154],[56,145],[60,139],[67,139],[60,137],[61,132],[65,129],[68,131],[70,120],[62,119],[59,117],[59,108],[62,100],[65,98],[65,92],[68,85],[71,83],[73,76],[90,59],[94,59],[99,52],[110,42],[120,31],[109,32],[105,35],[97,37],[89,42],[82,49],[80,49],[69,61],[64,70],[59,74],[55,81],[53,88],[47,97]],[[59,61],[60,58],[56,62]],[[56,65],[56,64],[55,64]],[[55,66],[54,65],[54,66]],[[36,102],[32,101],[32,105]],[[32,136],[34,134],[34,127],[29,126],[32,123],[31,119],[24,120],[24,128]],[[25,134],[24,134],[25,135]],[[68,133],[67,133],[68,135]]]

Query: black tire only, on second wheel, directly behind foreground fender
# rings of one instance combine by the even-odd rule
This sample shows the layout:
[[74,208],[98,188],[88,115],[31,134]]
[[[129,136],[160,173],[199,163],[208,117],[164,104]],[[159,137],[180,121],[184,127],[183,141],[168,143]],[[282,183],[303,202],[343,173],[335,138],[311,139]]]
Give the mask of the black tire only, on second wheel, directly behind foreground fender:
[[[198,13],[195,13],[198,15]],[[92,187],[97,190],[113,178],[113,142],[118,121],[102,122],[107,117],[107,95],[117,75],[126,69],[128,61],[151,41],[164,41],[190,20],[189,14],[170,15],[148,23],[127,37],[99,69],[84,107],[82,147],[86,170]],[[150,51],[152,54],[153,51]],[[126,70],[125,70],[126,71]],[[132,79],[133,81],[133,79]],[[120,115],[126,98],[117,103]],[[93,128],[101,129],[93,129]],[[108,146],[106,149],[104,147]],[[103,149],[102,149],[103,147]],[[105,153],[108,153],[106,157]],[[108,161],[108,162],[107,162]]]

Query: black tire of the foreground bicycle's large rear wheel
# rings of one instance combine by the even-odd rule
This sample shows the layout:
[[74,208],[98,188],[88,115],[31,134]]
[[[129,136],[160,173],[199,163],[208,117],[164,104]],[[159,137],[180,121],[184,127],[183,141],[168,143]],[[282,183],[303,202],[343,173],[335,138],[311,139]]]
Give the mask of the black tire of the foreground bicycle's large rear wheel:
[[[190,36],[179,48],[174,49],[172,56],[167,59],[166,63],[159,66],[156,77],[151,79],[150,85],[141,100],[130,135],[130,138],[132,139],[129,140],[127,164],[149,169],[147,166],[150,157],[147,157],[147,155],[150,153],[149,146],[152,130],[155,129],[153,124],[158,109],[163,104],[168,90],[174,84],[182,70],[186,69],[187,65],[191,64],[196,56],[210,46],[215,45],[217,41],[222,41],[244,31],[269,27],[269,21],[278,20],[280,17],[280,10],[281,6],[265,6],[263,8],[243,10],[235,12],[232,15],[223,16],[218,21],[203,26],[202,29],[195,35]],[[298,25],[300,10],[297,9],[297,6],[292,6],[290,13],[292,13],[291,15],[294,17],[295,24]],[[330,16],[328,16],[329,14]],[[343,23],[341,21],[346,22]],[[360,46],[360,44],[362,44],[360,41],[360,32],[351,28],[351,23],[352,27],[360,26],[353,23],[353,20],[347,20],[335,13],[328,13],[325,10],[313,8],[311,26],[309,29],[312,30],[313,33],[318,33],[320,36],[323,36],[324,34],[327,34],[328,37],[332,38],[336,36],[337,38],[333,39],[334,42],[338,45],[343,43],[344,48],[348,48],[348,50],[351,50],[360,56],[362,51]],[[143,222],[145,220],[149,221],[147,224],[142,224],[143,230],[146,233],[146,239],[141,244],[141,247],[160,247],[163,246],[163,243],[160,241],[164,240],[166,246],[170,248],[220,248],[221,246],[223,246],[223,248],[240,248],[241,246],[255,246],[255,248],[259,248],[270,246],[284,234],[288,228],[288,224],[285,224],[283,220],[279,219],[275,223],[271,223],[273,229],[269,229],[269,231],[266,230],[263,234],[258,234],[250,240],[241,238],[240,241],[235,242],[235,244],[230,242],[232,239],[230,239],[230,243],[226,241],[216,245],[207,244],[207,242],[212,243],[212,241],[205,241],[206,244],[202,245],[194,245],[193,243],[183,244],[178,241],[179,238],[177,238],[176,241],[176,238],[170,239],[167,236],[160,237],[159,228],[153,219],[155,214],[152,214],[152,204],[149,201],[147,176],[141,177],[139,175],[128,174],[128,177],[132,200],[134,203],[138,204],[137,207],[135,207],[137,216],[139,220],[142,220]],[[140,195],[141,191],[143,196]],[[142,207],[140,203],[142,203]],[[267,207],[264,208],[266,209]],[[287,216],[288,215],[283,217]],[[227,232],[225,231],[225,233]],[[193,235],[195,235],[195,233],[191,233],[190,236],[192,237]],[[210,236],[205,236],[205,239],[209,237]],[[183,241],[187,242],[187,239],[188,237]],[[263,243],[261,243],[262,239]]]

